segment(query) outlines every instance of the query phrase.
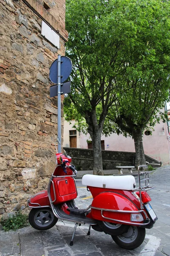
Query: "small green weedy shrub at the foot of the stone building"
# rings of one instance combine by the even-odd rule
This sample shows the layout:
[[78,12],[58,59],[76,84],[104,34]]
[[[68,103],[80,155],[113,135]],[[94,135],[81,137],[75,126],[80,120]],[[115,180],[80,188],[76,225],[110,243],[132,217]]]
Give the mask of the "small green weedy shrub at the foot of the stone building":
[[28,226],[28,216],[26,214],[22,214],[21,212],[17,212],[16,215],[9,217],[7,220],[1,219],[0,223],[3,226],[3,230],[17,230],[22,227]]

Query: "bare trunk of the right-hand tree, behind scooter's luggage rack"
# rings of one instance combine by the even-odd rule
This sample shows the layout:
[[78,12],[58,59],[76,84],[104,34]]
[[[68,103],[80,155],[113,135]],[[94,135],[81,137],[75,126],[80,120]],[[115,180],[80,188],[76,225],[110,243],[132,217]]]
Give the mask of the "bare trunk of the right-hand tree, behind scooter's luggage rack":
[[135,165],[138,167],[139,165],[145,165],[145,155],[143,149],[143,141],[142,141],[142,131],[133,133],[133,139],[135,143],[135,151],[136,151],[136,161]]

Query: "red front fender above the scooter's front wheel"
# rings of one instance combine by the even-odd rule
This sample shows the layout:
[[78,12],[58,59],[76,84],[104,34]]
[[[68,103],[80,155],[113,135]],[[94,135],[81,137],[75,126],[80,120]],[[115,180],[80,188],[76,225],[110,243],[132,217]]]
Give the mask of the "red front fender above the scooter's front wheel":
[[30,196],[27,204],[30,208],[50,207],[47,190],[42,190],[35,195]]

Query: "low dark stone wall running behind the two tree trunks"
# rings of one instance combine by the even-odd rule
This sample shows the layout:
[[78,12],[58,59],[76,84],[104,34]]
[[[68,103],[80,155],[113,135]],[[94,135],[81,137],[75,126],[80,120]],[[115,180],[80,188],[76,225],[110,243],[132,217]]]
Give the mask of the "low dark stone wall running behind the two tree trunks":
[[[82,148],[64,148],[72,158],[77,170],[93,170],[93,150]],[[146,161],[154,167],[160,167],[161,162],[145,155]],[[123,151],[102,150],[103,169],[116,169],[116,166],[134,166],[135,153]]]

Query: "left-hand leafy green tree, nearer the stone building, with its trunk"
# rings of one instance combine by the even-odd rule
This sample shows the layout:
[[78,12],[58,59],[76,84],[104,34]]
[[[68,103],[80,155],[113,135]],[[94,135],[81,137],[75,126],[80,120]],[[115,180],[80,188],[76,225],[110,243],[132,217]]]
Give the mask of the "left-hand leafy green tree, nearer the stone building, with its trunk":
[[[132,93],[134,87],[142,93],[148,84],[149,93],[147,79],[151,81],[152,76],[157,81],[162,73],[161,79],[169,84],[169,11],[169,1],[66,0],[66,51],[73,62],[73,86],[65,97],[64,111],[67,120],[86,121],[94,150],[94,174],[103,174],[102,130],[114,131],[105,122],[108,112],[115,111],[118,101],[124,104],[126,93]],[[166,52],[157,58],[163,49]],[[155,64],[158,76],[151,71]]]

